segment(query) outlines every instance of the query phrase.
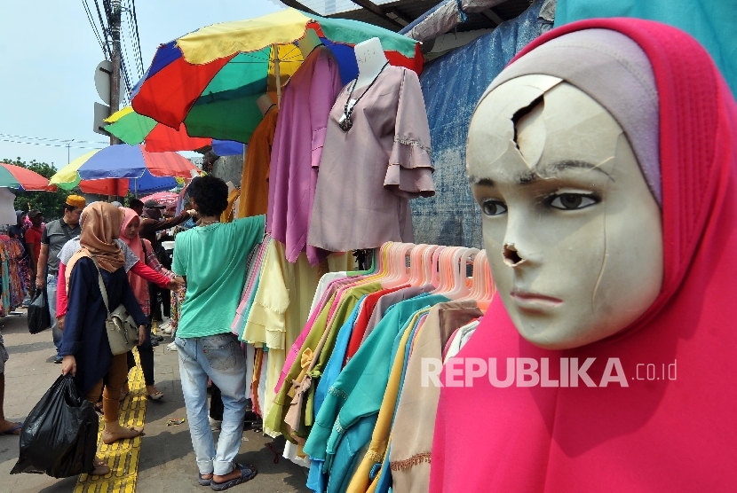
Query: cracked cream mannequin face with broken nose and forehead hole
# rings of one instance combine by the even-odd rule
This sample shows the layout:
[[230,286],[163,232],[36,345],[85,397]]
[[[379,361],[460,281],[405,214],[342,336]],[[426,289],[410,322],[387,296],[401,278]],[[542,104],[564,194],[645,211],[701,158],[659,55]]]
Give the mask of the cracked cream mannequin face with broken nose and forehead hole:
[[469,129],[466,168],[499,294],[526,340],[576,348],[660,293],[661,211],[614,117],[549,75],[505,82]]

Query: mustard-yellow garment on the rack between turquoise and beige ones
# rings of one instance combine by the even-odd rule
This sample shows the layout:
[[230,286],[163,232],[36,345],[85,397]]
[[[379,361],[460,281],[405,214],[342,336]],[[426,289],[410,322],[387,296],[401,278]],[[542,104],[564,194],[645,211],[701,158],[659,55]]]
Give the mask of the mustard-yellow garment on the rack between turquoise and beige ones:
[[[379,408],[379,415],[376,419],[376,425],[374,426],[374,433],[371,435],[371,442],[368,444],[366,455],[361,459],[361,464],[359,464],[355,473],[353,473],[351,482],[348,484],[348,489],[345,490],[346,493],[366,493],[368,488],[371,486],[371,480],[368,478],[368,474],[371,473],[371,468],[376,463],[380,464],[384,462],[384,454],[386,454],[386,449],[389,446],[389,437],[390,432],[392,431],[394,408],[396,407],[397,398],[399,397],[401,372],[404,368],[405,348],[407,347],[412,329],[415,328],[417,319],[429,311],[430,309],[427,308],[416,312],[405,327],[404,333],[400,339],[399,348],[397,348],[397,355],[394,356],[392,372],[389,373],[389,381],[386,384],[384,400],[381,402],[381,408]],[[417,328],[417,331],[420,330],[422,330],[422,327]],[[374,478],[373,481],[376,481],[376,479],[377,478]]]

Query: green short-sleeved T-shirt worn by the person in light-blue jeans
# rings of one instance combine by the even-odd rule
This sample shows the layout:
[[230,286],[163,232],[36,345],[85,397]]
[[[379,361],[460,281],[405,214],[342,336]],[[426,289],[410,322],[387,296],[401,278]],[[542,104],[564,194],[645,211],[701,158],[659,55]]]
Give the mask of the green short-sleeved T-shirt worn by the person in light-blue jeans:
[[251,250],[264,239],[265,216],[198,226],[177,235],[171,270],[186,277],[180,338],[229,333],[241,301]]

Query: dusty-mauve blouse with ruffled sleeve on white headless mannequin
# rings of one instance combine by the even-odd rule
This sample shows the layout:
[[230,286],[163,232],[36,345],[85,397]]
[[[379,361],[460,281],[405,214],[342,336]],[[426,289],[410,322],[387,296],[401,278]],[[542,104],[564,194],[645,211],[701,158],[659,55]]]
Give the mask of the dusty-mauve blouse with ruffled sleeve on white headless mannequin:
[[385,67],[368,91],[353,91],[353,99],[366,94],[344,132],[338,121],[350,89],[330,111],[307,244],[345,252],[412,242],[408,199],[435,194],[419,79],[407,68]]

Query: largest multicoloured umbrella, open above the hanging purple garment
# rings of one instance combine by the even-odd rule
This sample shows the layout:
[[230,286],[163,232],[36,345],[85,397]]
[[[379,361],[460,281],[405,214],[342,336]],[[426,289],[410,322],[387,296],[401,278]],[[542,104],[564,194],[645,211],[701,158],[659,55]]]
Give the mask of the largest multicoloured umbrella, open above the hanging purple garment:
[[314,29],[337,59],[341,79],[358,74],[353,46],[378,37],[395,66],[422,71],[419,43],[357,20],[326,19],[295,9],[257,19],[202,27],[159,46],[132,91],[133,109],[192,137],[248,143],[262,115],[256,100],[278,101],[281,86],[302,63],[297,41]]

